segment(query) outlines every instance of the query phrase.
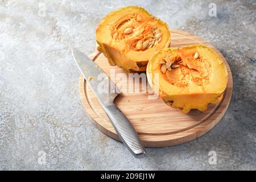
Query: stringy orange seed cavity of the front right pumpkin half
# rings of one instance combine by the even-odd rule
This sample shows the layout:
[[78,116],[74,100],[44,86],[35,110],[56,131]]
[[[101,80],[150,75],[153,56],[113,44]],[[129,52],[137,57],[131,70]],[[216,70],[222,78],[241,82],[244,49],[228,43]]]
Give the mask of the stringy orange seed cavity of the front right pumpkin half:
[[191,82],[198,86],[209,83],[212,67],[198,52],[189,55],[169,54],[159,61],[160,69],[172,85],[187,87]]

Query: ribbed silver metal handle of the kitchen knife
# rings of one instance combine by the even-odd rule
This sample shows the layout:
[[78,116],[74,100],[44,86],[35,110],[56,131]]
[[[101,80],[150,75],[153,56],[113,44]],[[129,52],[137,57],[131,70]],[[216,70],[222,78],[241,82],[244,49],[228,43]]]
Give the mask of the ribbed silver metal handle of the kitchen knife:
[[115,105],[104,106],[106,113],[110,121],[112,122],[115,131],[119,138],[129,148],[130,152],[135,158],[144,158],[146,156],[146,150],[142,146],[141,140],[138,137],[137,132],[134,130],[133,125],[118,109]]

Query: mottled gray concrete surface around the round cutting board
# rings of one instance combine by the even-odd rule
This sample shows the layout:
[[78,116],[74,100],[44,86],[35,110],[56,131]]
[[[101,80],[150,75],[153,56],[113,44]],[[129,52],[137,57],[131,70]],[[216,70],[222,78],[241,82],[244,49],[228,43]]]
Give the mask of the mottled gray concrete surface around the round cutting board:
[[[217,16],[209,16],[210,3]],[[233,73],[232,102],[213,130],[179,146],[148,148],[145,159],[89,121],[69,51],[92,53],[101,18],[127,5],[208,40]],[[0,0],[0,169],[255,170],[255,16],[255,1]],[[209,164],[210,151],[217,164]]]

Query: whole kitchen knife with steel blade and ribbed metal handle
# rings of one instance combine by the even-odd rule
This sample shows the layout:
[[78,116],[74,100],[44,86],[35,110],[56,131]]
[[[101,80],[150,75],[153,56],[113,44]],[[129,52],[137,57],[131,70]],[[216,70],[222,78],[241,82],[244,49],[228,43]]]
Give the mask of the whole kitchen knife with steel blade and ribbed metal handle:
[[129,148],[135,158],[144,158],[146,150],[129,119],[114,104],[115,97],[121,91],[104,71],[88,56],[72,48],[72,55],[84,76],[87,84],[92,88],[101,106],[106,111],[112,125],[122,142]]

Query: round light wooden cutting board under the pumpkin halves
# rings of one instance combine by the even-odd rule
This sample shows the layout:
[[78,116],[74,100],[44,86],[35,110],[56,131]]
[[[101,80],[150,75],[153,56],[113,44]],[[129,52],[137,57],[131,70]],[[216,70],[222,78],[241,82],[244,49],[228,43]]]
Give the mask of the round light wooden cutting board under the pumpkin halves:
[[[211,47],[224,60],[228,69],[228,86],[224,97],[219,104],[210,104],[208,110],[204,113],[198,110],[192,110],[189,114],[183,114],[179,110],[172,109],[164,104],[160,98],[148,100],[149,93],[119,94],[115,99],[115,104],[133,124],[145,147],[174,146],[200,137],[212,129],[228,109],[232,96],[233,81],[232,73],[224,57],[204,39],[181,30],[171,30],[171,47],[190,44],[204,44],[205,46]],[[121,68],[110,66],[108,60],[102,53],[95,52],[92,59],[109,76],[110,69],[112,71],[114,69],[115,73],[123,73]],[[86,113],[88,113],[94,125],[109,137],[119,140],[104,109],[102,109],[96,96],[82,76],[80,77],[80,95],[82,105],[85,107]]]

